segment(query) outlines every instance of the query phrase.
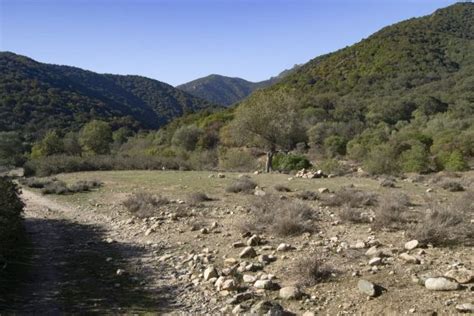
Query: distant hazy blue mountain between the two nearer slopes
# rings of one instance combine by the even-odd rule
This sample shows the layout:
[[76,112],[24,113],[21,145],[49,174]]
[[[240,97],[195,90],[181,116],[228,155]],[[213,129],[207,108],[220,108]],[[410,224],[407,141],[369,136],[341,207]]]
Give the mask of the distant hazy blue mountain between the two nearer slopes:
[[209,75],[188,83],[177,86],[176,88],[186,91],[196,97],[208,100],[209,102],[230,106],[248,97],[253,91],[268,87],[283,77],[287,76],[299,65],[291,69],[284,70],[276,77],[265,81],[250,82],[241,78],[225,77],[221,75]]

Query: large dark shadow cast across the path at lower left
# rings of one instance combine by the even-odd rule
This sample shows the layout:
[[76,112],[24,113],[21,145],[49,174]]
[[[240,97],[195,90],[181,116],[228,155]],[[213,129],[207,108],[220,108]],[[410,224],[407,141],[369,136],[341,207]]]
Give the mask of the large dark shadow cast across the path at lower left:
[[[31,242],[0,279],[0,314],[169,312],[177,307],[175,287],[147,286],[152,284],[147,271],[128,265],[146,256],[144,248],[107,242],[104,232],[91,225],[27,219],[25,226]],[[118,275],[118,269],[126,273]]]

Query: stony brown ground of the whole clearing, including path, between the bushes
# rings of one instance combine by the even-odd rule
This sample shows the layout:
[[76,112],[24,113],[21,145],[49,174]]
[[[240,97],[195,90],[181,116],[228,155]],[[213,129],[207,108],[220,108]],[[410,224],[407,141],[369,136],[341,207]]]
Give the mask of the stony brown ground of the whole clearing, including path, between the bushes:
[[[421,218],[430,207],[427,201],[450,204],[466,194],[445,189],[446,178],[470,191],[473,173],[406,179],[247,176],[258,184],[247,194],[225,191],[241,175],[205,172],[80,173],[59,178],[68,183],[100,179],[104,186],[65,196],[24,190],[32,273],[22,284],[21,299],[8,310],[473,313],[472,239],[449,246],[425,244],[410,235],[416,220],[396,229],[374,229],[376,206],[361,208],[367,221],[348,222],[341,218],[345,206],[325,203],[343,187],[373,193],[379,200],[403,192],[411,201],[409,215]],[[287,190],[277,191],[275,184]],[[307,190],[317,199],[301,201]],[[151,216],[133,216],[123,201],[137,192],[159,194],[169,203]],[[211,200],[193,201],[193,192]],[[256,199],[269,196],[274,208],[308,206],[312,215],[304,224],[311,229],[285,236],[270,221],[249,225],[254,224]],[[464,214],[468,227],[473,212]]]

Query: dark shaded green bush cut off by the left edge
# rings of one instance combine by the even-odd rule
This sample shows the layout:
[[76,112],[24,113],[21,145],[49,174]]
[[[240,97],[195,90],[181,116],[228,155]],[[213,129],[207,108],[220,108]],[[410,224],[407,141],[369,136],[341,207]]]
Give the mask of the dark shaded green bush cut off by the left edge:
[[[0,267],[15,256],[23,239],[23,202],[18,187],[8,178],[0,177]],[[2,268],[0,268],[0,275]]]

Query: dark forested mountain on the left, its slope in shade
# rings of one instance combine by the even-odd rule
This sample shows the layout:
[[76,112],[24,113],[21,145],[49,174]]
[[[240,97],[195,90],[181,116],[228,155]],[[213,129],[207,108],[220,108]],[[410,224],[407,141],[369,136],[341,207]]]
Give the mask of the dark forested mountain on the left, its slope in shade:
[[157,80],[98,74],[0,52],[0,131],[77,130],[91,119],[155,129],[211,106]]

